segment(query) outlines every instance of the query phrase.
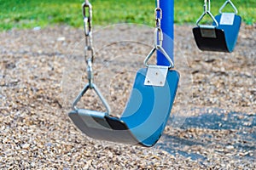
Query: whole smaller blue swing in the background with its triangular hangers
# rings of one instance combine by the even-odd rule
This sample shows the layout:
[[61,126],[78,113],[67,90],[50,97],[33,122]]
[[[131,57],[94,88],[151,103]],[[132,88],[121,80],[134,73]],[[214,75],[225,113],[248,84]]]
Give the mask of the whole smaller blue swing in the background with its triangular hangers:
[[[230,3],[231,7],[234,8],[235,13],[222,13],[222,9],[228,3]],[[241,16],[237,15],[237,9],[230,0],[224,3],[224,5],[219,9],[219,13],[220,14],[213,17],[210,10],[207,10],[205,3],[205,12],[201,15],[199,20],[197,20],[197,26],[193,28],[195,42],[197,47],[202,51],[231,53],[236,46],[236,41],[241,26]],[[212,26],[199,25],[199,22],[206,14],[211,16],[213,20]]]

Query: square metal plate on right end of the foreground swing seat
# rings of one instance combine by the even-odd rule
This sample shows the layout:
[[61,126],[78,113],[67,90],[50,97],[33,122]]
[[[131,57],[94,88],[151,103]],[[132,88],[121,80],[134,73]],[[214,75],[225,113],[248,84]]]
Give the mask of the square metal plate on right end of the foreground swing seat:
[[148,65],[148,71],[147,71],[144,85],[160,86],[160,87],[165,86],[167,72],[168,72],[168,66]]

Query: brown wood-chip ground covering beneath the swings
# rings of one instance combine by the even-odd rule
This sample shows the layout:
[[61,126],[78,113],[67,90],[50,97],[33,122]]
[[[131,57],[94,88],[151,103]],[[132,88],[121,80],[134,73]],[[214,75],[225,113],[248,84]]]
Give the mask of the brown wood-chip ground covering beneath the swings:
[[[181,83],[153,148],[90,139],[68,118],[86,81],[82,30],[1,32],[0,168],[256,169],[256,26],[241,26],[232,54],[199,51],[192,28],[175,26]],[[120,115],[154,29],[130,24],[95,30],[96,84],[113,115]],[[94,97],[81,105],[101,110]]]

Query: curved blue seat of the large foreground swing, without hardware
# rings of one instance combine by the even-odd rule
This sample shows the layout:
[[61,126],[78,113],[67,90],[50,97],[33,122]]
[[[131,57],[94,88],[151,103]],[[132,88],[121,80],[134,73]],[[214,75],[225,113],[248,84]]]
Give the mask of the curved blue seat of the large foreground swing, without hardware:
[[168,70],[163,86],[145,85],[147,70],[137,71],[130,99],[120,118],[85,109],[71,111],[68,116],[90,138],[153,146],[170,116],[179,74]]

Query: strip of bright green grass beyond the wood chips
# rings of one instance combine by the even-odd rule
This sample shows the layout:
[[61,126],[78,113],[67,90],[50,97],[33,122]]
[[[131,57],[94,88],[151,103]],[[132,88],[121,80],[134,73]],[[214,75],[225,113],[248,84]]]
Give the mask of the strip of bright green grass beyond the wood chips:
[[[66,24],[83,26],[83,0],[0,0],[0,31]],[[256,22],[256,1],[233,1],[247,25]],[[94,8],[93,24],[138,23],[154,26],[153,0],[90,0]],[[195,23],[202,13],[202,0],[176,0],[175,23]],[[212,14],[224,0],[212,1]],[[229,10],[227,8],[227,10]]]

